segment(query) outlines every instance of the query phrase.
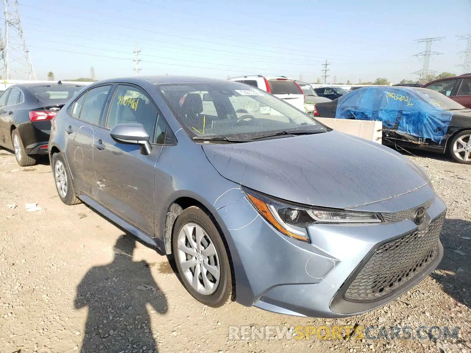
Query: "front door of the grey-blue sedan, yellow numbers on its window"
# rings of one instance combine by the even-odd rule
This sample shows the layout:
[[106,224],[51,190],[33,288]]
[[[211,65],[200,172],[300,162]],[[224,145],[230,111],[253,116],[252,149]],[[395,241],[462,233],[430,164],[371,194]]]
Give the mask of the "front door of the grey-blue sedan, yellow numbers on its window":
[[[108,109],[105,127],[94,136],[93,164],[96,200],[142,232],[154,236],[154,167],[162,150],[155,145],[159,115],[154,101],[136,86],[119,85]],[[153,145],[149,155],[138,144],[114,140],[110,129],[122,123],[140,123]]]

